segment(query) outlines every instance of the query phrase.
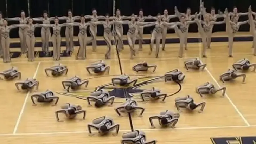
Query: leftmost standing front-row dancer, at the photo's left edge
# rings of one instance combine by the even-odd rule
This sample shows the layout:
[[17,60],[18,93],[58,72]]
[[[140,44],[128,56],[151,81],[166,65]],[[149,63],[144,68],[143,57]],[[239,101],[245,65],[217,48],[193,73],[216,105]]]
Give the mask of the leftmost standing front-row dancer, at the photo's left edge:
[[19,27],[18,25],[8,26],[7,20],[4,19],[3,26],[0,27],[1,31],[1,45],[3,50],[3,61],[4,63],[11,62],[10,56],[10,30]]

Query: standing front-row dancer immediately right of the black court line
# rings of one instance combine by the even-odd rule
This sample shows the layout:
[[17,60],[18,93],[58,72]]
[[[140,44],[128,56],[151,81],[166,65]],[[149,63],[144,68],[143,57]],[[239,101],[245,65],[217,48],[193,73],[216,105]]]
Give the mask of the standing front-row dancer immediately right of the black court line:
[[143,26],[146,24],[152,24],[152,22],[136,22],[136,17],[134,14],[130,17],[131,21],[114,21],[114,24],[127,24],[129,26],[129,30],[127,32],[127,41],[130,47],[130,59],[133,59],[133,56],[136,56],[136,50],[134,49],[136,38],[142,40],[141,37],[139,37],[139,26]]

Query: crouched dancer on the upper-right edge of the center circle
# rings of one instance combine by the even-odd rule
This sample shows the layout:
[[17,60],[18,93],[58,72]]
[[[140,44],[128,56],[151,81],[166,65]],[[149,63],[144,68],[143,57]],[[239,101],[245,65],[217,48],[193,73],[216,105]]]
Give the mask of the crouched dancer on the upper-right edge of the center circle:
[[166,72],[164,74],[165,82],[167,81],[175,81],[177,83],[181,83],[185,78],[185,74],[183,74],[180,70],[174,69],[172,71]]

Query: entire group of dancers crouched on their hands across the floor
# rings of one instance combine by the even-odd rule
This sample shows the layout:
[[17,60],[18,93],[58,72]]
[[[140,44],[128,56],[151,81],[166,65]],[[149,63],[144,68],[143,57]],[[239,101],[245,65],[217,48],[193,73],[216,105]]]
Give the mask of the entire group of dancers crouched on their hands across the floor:
[[[188,59],[184,61],[184,68],[186,70],[190,69],[196,69],[196,70],[204,70],[206,67],[206,64],[204,64],[200,59],[193,58]],[[241,59],[234,63],[232,65],[233,70],[229,69],[227,72],[224,72],[220,75],[219,79],[223,83],[225,81],[235,80],[238,77],[243,77],[242,82],[245,82],[246,75],[242,72],[246,72],[250,69],[250,67],[253,67],[253,72],[255,72],[256,64],[250,63],[250,61],[246,58]],[[143,61],[141,63],[138,63],[132,67],[132,70],[135,72],[140,71],[149,71],[152,70],[153,72],[156,70],[156,65],[149,65],[147,62]],[[108,74],[110,71],[110,67],[102,60],[97,61],[95,63],[90,64],[86,67],[89,74]],[[59,77],[62,75],[66,75],[68,73],[68,67],[62,64],[58,64],[49,68],[45,68],[46,76],[49,76],[49,73],[51,72],[52,77]],[[21,72],[18,71],[17,68],[12,67],[9,70],[3,71],[0,73],[1,76],[4,76],[4,79],[6,80],[14,80],[15,78],[20,79],[21,78]],[[166,72],[162,79],[167,82],[176,82],[176,83],[182,83],[185,78],[185,75],[183,72],[181,72],[178,69]],[[3,79],[3,78],[1,78]],[[120,75],[112,78],[112,84],[114,87],[123,87],[128,88],[136,82],[137,79],[130,79],[128,75]],[[63,85],[63,88],[66,91],[77,91],[83,87],[86,88],[89,84],[89,80],[87,79],[81,79],[78,76],[74,76],[70,79],[64,80],[61,82]],[[30,90],[38,90],[39,87],[39,81],[36,79],[30,79],[27,78],[25,81],[17,82],[15,83],[15,86],[18,90],[24,90],[24,91],[30,91]],[[35,88],[35,89],[34,89]],[[200,97],[203,97],[203,95],[214,95],[215,93],[222,91],[222,97],[225,96],[226,87],[220,87],[216,88],[212,83],[205,83],[198,87],[196,87],[196,92],[200,95]],[[165,102],[167,99],[167,94],[162,93],[160,89],[157,89],[153,87],[152,89],[146,89],[143,90],[143,92],[140,93],[140,97],[142,101],[145,101],[145,99],[149,99],[152,101],[158,101],[161,99],[161,102]],[[58,103],[59,97],[54,94],[54,92],[50,90],[46,90],[42,93],[32,94],[31,100],[33,105],[36,105],[37,103],[51,103],[52,105],[56,105]],[[110,96],[109,92],[104,89],[99,89],[90,94],[86,98],[87,103],[89,106],[94,103],[95,107],[103,107],[104,105],[110,105],[112,106],[115,100],[115,96]],[[151,125],[151,128],[155,128],[153,120],[157,119],[161,127],[171,127],[175,128],[175,125],[178,123],[178,120],[180,118],[180,113],[182,112],[181,109],[187,109],[188,111],[193,111],[197,108],[199,108],[198,112],[203,112],[206,102],[200,102],[196,103],[193,98],[190,95],[187,95],[185,97],[178,97],[175,98],[174,105],[177,108],[178,112],[173,112],[171,110],[165,110],[160,112],[159,114],[155,114],[154,116],[149,117],[149,123]],[[117,113],[118,116],[122,116],[121,113],[133,113],[136,110],[139,110],[139,116],[143,115],[143,112],[146,110],[144,107],[139,106],[139,104],[129,98],[126,100],[126,102],[122,103],[121,105],[117,106],[114,111]],[[61,106],[61,109],[55,112],[56,119],[58,122],[61,122],[63,120],[59,119],[59,114],[63,113],[67,119],[74,119],[78,114],[83,114],[82,120],[86,118],[87,111],[82,108],[80,105],[70,104],[66,103]],[[88,124],[88,131],[90,135],[94,135],[92,133],[91,129],[96,129],[100,135],[107,134],[112,130],[115,130],[115,133],[113,135],[117,135],[119,132],[120,124],[115,124],[114,120],[111,117],[102,116],[99,118],[95,118],[92,120],[92,123]],[[135,130],[133,132],[124,133],[122,136],[122,142],[132,142],[132,143],[140,143],[140,144],[146,144],[146,135],[143,131]],[[152,143],[156,143],[156,140],[150,141]]]

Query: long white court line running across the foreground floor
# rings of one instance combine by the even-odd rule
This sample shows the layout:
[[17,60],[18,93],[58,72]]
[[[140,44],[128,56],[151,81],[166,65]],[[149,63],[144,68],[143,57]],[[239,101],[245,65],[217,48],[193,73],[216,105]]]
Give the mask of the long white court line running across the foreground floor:
[[[200,129],[232,129],[232,128],[246,128],[246,127],[256,127],[256,125],[251,126],[212,126],[212,127],[180,127],[173,130],[200,130]],[[167,129],[140,129],[141,131],[159,131],[159,130],[169,130]],[[119,132],[129,132],[131,130],[120,130]],[[39,132],[39,133],[8,133],[0,134],[0,136],[25,136],[25,135],[60,135],[60,134],[72,134],[72,133],[88,133],[88,131],[66,131],[66,132]]]

